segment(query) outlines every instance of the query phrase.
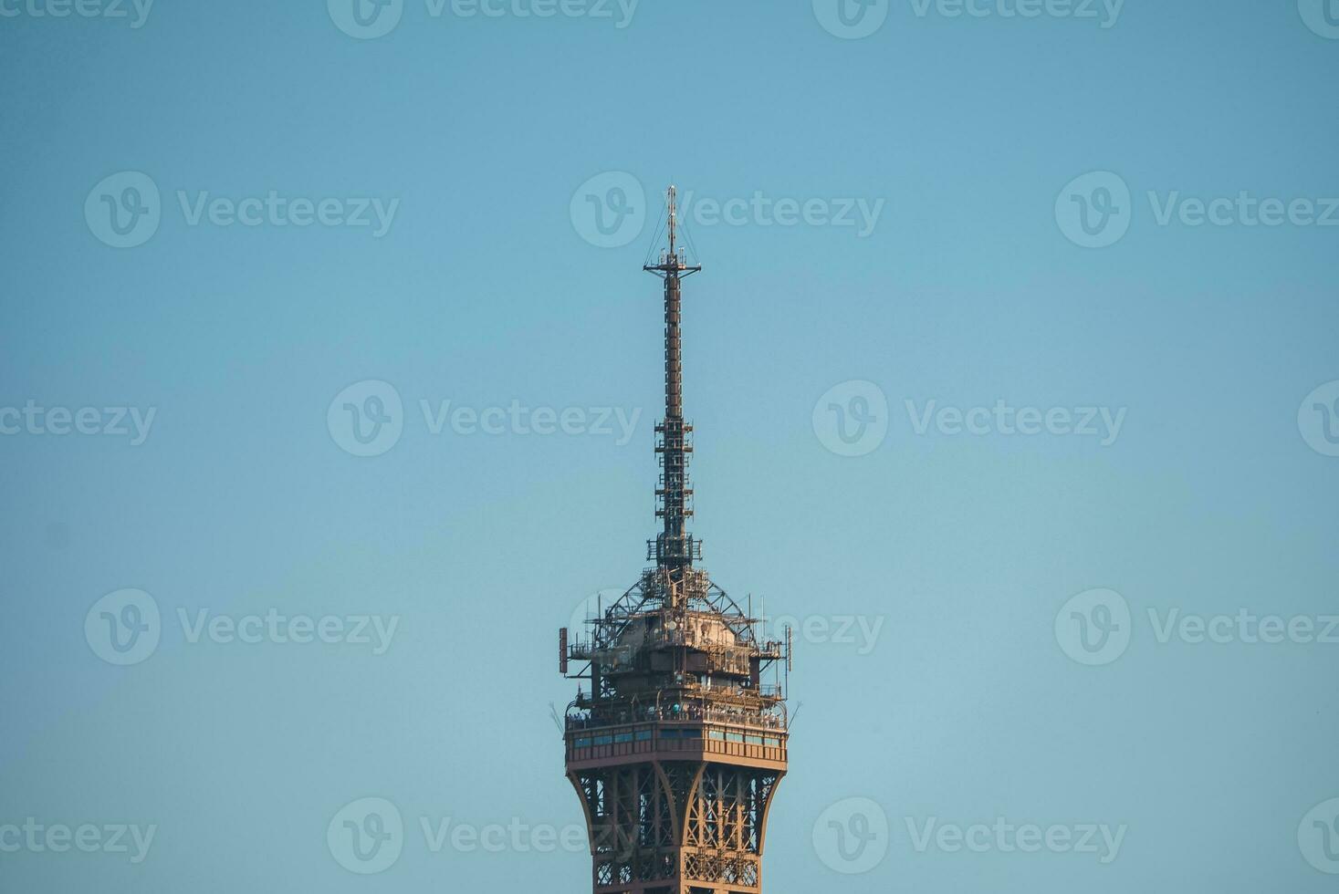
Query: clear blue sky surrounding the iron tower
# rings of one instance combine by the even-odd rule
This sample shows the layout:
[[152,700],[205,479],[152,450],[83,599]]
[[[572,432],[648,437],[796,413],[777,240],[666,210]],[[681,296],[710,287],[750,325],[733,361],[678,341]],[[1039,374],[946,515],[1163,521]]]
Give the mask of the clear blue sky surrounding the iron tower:
[[[767,891],[1332,890],[1297,830],[1339,798],[1339,644],[1160,642],[1148,618],[1339,612],[1339,458],[1299,430],[1339,379],[1339,226],[1162,226],[1146,198],[1339,197],[1339,40],[1291,0],[1127,0],[1109,28],[897,0],[862,39],[807,0],[643,3],[623,28],[406,0],[366,40],[315,0],[163,0],[139,28],[0,7],[0,407],[157,410],[138,446],[0,436],[0,824],[158,826],[138,865],[0,853],[0,887],[589,890],[584,854],[431,853],[418,826],[581,818],[556,630],[635,582],[655,530],[653,221],[599,248],[570,210],[625,171],[652,218],[671,178],[884,202],[864,238],[690,219],[704,565],[769,614],[882,625],[798,637]],[[135,248],[84,214],[118,171],[162,194]],[[1101,249],[1055,213],[1090,171],[1131,193]],[[380,238],[193,226],[178,190],[399,206]],[[404,406],[370,458],[327,423],[363,380]],[[852,380],[888,431],[840,456],[813,415]],[[432,434],[420,400],[641,415],[625,444]],[[1126,415],[1109,446],[917,434],[907,400]],[[84,620],[125,588],[161,642],[112,666]],[[1054,628],[1094,588],[1131,636],[1085,666]],[[178,609],[400,620],[374,654],[190,642]],[[325,840],[364,796],[407,827],[375,875]],[[813,836],[845,798],[888,819],[861,874]],[[1102,865],[919,851],[908,818],[1127,831]]]

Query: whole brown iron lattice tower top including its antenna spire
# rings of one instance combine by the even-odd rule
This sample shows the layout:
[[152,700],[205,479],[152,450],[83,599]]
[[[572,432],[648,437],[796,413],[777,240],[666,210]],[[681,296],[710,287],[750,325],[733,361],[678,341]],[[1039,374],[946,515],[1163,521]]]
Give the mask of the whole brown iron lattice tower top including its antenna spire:
[[763,675],[789,672],[790,642],[763,641],[759,621],[695,566],[680,280],[702,268],[676,245],[674,186],[667,207],[668,250],[643,268],[664,280],[663,527],[648,542],[655,565],[601,606],[590,630],[558,633],[562,673],[589,681],[568,705],[566,772],[589,830],[595,894],[761,894],[789,737],[785,688]]

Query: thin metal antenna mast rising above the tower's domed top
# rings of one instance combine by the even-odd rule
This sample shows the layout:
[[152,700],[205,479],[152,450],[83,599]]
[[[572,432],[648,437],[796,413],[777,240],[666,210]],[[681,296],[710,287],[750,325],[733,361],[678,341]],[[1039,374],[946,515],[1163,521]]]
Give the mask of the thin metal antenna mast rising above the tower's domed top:
[[692,452],[692,426],[683,420],[683,340],[680,336],[679,281],[702,270],[690,265],[679,250],[676,190],[665,193],[670,215],[670,248],[659,264],[643,265],[665,281],[665,415],[656,426],[656,454],[660,456],[660,483],[656,487],[656,517],[664,527],[647,546],[647,558],[656,567],[671,573],[691,567],[702,558],[702,542],[688,534],[686,522],[692,515],[692,487],[688,480],[688,455]]

